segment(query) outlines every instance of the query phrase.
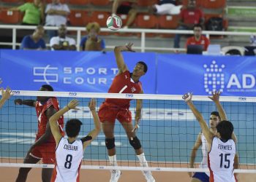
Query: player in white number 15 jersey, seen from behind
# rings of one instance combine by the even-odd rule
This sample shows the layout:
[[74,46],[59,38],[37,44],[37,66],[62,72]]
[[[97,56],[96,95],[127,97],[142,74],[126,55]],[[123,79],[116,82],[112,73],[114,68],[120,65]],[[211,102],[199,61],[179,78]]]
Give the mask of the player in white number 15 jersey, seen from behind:
[[[216,92],[215,92],[216,93]],[[218,92],[220,93],[220,92]],[[210,170],[210,182],[236,182],[234,162],[236,157],[236,143],[232,139],[233,124],[222,120],[217,124],[217,133],[208,128],[203,116],[197,111],[192,103],[192,94],[187,93],[183,96],[187,105],[192,110],[202,129],[208,145],[208,168]],[[213,100],[213,99],[212,99]],[[215,103],[216,100],[214,100]],[[219,101],[218,101],[219,103]],[[222,107],[217,104],[217,108]],[[223,109],[223,108],[222,108]]]

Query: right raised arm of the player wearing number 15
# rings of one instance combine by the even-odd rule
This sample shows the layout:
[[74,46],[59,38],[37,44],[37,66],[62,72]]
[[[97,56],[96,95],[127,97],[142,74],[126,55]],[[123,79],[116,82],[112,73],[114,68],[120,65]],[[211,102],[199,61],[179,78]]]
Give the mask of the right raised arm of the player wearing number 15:
[[[215,92],[212,93],[212,96],[211,96],[211,97],[208,97],[208,98],[210,98],[211,100],[213,100],[214,103],[215,103],[215,105],[217,106],[217,109],[218,109],[218,111],[219,111],[219,116],[220,116],[221,121],[227,121],[227,120],[228,120],[228,119],[227,119],[227,114],[226,114],[224,108],[222,107],[222,104],[219,102],[219,95],[220,95],[221,93],[222,93],[222,92],[220,92],[220,91],[218,91],[218,92],[215,91]],[[232,133],[232,137],[231,137],[231,138],[233,139],[233,141],[234,141],[235,143],[237,142],[237,138],[236,138],[236,135],[235,135],[234,132]]]

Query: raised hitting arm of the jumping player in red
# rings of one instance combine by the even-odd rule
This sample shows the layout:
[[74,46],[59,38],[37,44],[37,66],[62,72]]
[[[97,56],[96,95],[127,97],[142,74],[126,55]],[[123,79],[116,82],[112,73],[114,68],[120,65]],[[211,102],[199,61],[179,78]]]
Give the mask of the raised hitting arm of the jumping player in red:
[[127,71],[127,65],[124,63],[123,55],[121,54],[121,51],[131,51],[132,50],[132,43],[129,43],[125,46],[117,46],[114,49],[115,56],[116,56],[116,65],[118,67],[118,74],[124,73],[124,71]]

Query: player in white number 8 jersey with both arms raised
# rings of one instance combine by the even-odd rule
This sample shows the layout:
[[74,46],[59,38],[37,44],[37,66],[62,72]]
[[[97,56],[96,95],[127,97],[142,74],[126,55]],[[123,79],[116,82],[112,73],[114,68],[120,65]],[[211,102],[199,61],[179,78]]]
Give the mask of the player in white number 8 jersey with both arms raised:
[[83,152],[91,141],[97,137],[100,132],[100,122],[97,112],[95,111],[95,100],[91,99],[89,108],[94,117],[94,130],[89,134],[77,140],[80,132],[80,122],[78,119],[70,119],[66,124],[66,132],[68,138],[63,138],[59,132],[57,120],[70,109],[75,109],[78,106],[78,100],[71,100],[67,106],[56,112],[50,117],[50,130],[56,141],[56,165],[53,170],[51,182],[78,182],[80,174],[80,165],[83,159]]

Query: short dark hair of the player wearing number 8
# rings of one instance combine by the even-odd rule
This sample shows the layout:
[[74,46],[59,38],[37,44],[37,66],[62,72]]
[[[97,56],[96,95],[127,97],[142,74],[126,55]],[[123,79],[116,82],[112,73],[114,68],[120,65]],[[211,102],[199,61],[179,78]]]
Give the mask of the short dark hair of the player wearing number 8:
[[76,137],[80,132],[82,122],[79,119],[70,119],[66,123],[66,132],[68,137]]

